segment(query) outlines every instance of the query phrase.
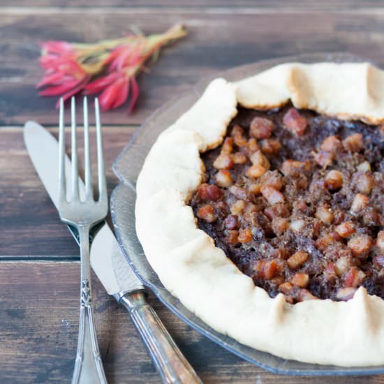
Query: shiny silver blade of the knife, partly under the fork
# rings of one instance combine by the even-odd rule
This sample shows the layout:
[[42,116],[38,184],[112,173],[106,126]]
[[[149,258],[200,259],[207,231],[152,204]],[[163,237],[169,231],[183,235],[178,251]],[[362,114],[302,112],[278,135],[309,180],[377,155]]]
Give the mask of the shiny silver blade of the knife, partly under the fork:
[[[59,200],[59,143],[42,126],[34,121],[27,121],[24,126],[24,141],[29,156],[54,206]],[[71,160],[66,156],[66,179],[71,183]],[[80,197],[84,197],[84,184],[79,177]],[[68,198],[71,188],[67,189]],[[69,227],[77,239],[75,228]],[[128,265],[115,235],[107,223],[99,230],[92,240],[91,266],[103,283],[109,295],[121,295],[134,290],[144,290],[141,281]]]

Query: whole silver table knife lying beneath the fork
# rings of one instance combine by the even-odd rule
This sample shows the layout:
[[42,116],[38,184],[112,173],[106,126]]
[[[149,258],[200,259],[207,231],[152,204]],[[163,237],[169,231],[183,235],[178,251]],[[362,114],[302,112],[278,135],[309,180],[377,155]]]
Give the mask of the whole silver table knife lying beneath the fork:
[[[24,141],[29,156],[52,202],[57,207],[59,198],[59,145],[57,140],[39,124],[27,121]],[[71,161],[66,156],[66,178],[71,179]],[[80,181],[80,196],[84,184]],[[70,190],[70,189],[68,189]],[[77,239],[75,228],[68,226]],[[200,378],[176,346],[175,341],[147,303],[147,293],[140,279],[124,258],[112,230],[105,223],[94,232],[91,244],[91,266],[109,295],[131,314],[133,323],[149,350],[163,383],[202,383]]]

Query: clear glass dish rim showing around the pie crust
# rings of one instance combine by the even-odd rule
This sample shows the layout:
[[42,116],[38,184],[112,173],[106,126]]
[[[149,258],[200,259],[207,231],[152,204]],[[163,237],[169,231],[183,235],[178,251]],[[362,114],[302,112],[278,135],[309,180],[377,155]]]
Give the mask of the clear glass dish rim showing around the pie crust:
[[232,68],[222,73],[216,73],[209,78],[195,84],[184,95],[180,95],[169,103],[156,110],[145,121],[145,124],[135,133],[131,142],[128,142],[124,150],[119,154],[113,170],[119,177],[120,184],[112,193],[111,212],[117,239],[124,251],[127,262],[142,282],[179,318],[191,325],[195,330],[205,335],[223,348],[230,350],[235,355],[242,357],[258,367],[267,369],[275,374],[297,376],[344,376],[344,375],[374,375],[384,374],[384,366],[379,367],[336,367],[330,365],[307,364],[294,360],[285,360],[270,353],[244,346],[234,339],[212,330],[200,318],[186,309],[176,297],[166,290],[158,279],[156,272],[147,262],[142,246],[135,232],[135,182],[142,168],[142,163],[154,144],[159,133],[170,126],[177,117],[188,110],[198,100],[202,91],[210,80],[216,77],[224,77],[226,80],[240,80],[267,68],[284,62],[300,61],[314,63],[319,61],[357,62],[367,61],[353,54],[342,53],[318,53],[304,54],[294,57],[281,57],[278,59],[259,61],[254,64]]

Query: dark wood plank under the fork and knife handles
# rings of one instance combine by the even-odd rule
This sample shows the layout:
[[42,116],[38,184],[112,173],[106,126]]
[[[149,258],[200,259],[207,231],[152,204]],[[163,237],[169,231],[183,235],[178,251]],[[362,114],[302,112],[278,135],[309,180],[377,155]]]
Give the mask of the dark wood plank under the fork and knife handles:
[[[69,383],[78,324],[78,263],[0,263],[0,382]],[[128,313],[94,278],[96,329],[108,382],[159,383]],[[276,376],[244,362],[165,309],[149,302],[205,383],[304,384],[309,378]],[[311,383],[384,383],[370,378],[311,378]]]

